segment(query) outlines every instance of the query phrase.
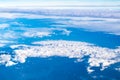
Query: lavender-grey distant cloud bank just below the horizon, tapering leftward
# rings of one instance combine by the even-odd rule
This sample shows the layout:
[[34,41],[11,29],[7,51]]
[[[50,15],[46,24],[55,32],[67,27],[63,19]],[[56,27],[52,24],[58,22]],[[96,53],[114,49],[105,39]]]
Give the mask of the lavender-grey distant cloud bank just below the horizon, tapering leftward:
[[11,13],[30,13],[48,16],[73,16],[73,17],[104,17],[104,18],[120,18],[119,9],[42,9],[42,8],[1,8],[0,12],[11,12]]

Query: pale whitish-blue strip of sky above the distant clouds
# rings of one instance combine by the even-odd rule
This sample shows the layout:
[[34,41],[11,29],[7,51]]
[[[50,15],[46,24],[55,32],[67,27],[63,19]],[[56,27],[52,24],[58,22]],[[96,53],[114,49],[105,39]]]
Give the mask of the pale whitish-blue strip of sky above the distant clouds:
[[0,0],[0,6],[118,6],[120,0]]

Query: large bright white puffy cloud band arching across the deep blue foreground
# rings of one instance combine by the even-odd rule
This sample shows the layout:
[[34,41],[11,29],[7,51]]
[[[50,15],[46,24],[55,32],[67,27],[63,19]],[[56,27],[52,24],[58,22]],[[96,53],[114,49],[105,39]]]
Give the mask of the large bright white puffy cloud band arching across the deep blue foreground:
[[[12,45],[11,48],[14,49],[15,56],[11,58],[10,55],[1,55],[0,63],[6,66],[12,65],[12,62],[24,63],[28,57],[51,57],[51,56],[62,56],[69,58],[82,59],[85,56],[89,56],[87,68],[88,72],[92,72],[92,67],[100,67],[101,70],[109,67],[111,64],[120,62],[120,48],[109,49],[98,47],[93,44],[86,42],[77,41],[40,41],[33,42],[36,46],[29,45]],[[17,62],[17,63],[16,63]]]

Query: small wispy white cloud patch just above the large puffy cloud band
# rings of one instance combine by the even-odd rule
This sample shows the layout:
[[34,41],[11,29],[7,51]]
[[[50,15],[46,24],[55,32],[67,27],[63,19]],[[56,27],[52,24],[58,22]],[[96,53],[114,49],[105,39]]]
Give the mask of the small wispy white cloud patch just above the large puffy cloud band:
[[71,33],[71,31],[64,28],[23,28],[24,33],[21,35],[22,37],[50,37],[52,35],[59,35],[55,33],[55,31],[60,31],[60,35],[67,35]]

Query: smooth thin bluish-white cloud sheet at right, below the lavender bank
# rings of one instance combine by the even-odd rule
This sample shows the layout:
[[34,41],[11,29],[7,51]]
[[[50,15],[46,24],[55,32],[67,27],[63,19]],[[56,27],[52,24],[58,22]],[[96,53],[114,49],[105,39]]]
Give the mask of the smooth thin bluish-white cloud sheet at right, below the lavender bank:
[[102,31],[109,34],[120,35],[119,25],[120,25],[120,19],[73,17],[73,18],[69,18],[69,20],[67,21],[58,20],[56,21],[56,25],[53,26],[59,26],[64,28],[65,27],[83,28],[88,31]]

